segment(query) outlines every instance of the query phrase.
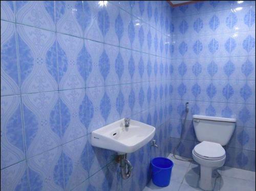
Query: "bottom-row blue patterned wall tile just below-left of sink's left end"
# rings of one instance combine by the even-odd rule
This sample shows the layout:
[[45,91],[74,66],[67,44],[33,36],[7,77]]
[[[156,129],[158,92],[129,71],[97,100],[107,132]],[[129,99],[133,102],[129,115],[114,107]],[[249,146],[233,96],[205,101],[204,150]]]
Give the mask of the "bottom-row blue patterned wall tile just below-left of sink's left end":
[[89,177],[87,144],[87,136],[83,136],[62,146],[65,189],[73,189]]

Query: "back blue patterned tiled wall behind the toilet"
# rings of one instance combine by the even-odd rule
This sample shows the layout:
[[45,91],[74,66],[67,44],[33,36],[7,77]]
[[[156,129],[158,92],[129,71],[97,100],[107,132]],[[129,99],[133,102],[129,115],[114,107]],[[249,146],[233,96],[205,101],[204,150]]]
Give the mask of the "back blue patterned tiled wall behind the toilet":
[[189,102],[178,154],[198,144],[193,114],[234,117],[225,165],[255,171],[255,2],[204,1],[172,18],[172,152]]

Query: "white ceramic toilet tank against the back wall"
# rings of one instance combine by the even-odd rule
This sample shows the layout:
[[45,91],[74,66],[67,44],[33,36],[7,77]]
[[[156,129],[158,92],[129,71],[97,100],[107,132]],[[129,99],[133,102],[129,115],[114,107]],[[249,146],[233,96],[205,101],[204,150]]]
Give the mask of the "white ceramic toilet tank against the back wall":
[[225,146],[234,132],[236,119],[193,115],[193,125],[200,142],[206,140]]

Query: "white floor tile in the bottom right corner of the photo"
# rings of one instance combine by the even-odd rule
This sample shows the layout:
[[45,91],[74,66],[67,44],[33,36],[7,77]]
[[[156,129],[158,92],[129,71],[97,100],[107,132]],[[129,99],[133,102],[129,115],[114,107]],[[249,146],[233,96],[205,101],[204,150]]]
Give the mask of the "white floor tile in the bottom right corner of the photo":
[[221,191],[222,190],[223,191],[234,191],[234,190],[255,191],[255,182],[222,176],[221,182],[220,182],[220,190]]

